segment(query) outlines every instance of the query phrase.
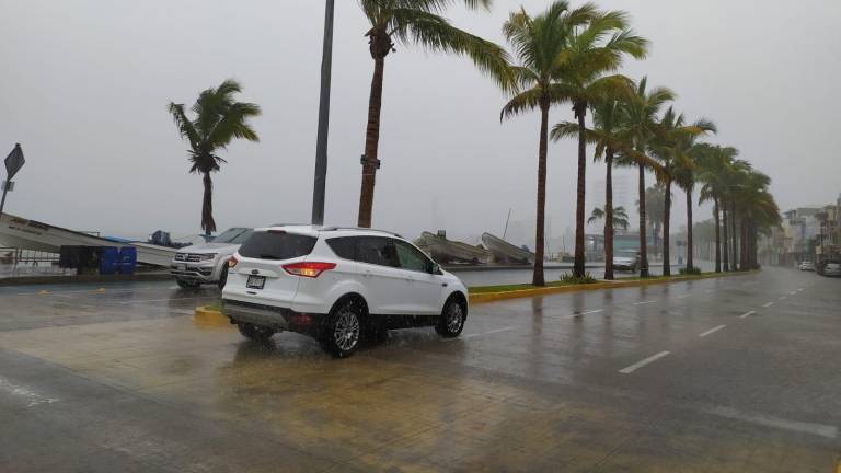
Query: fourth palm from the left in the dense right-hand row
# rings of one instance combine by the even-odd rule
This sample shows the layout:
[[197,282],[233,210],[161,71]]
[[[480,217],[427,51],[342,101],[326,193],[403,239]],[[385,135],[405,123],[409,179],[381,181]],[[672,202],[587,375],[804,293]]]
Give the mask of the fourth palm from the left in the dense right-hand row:
[[[640,154],[648,152],[648,146],[656,136],[658,128],[658,114],[660,108],[675,100],[675,92],[666,88],[648,90],[648,79],[643,78],[634,91],[633,100],[625,107],[627,115],[627,129],[633,140],[633,148]],[[645,199],[645,172],[650,163],[642,160],[621,159],[622,165],[634,165],[638,171],[638,211],[640,211],[640,276],[648,277],[648,246],[645,223],[647,221],[647,206]],[[654,168],[658,171],[657,168]]]

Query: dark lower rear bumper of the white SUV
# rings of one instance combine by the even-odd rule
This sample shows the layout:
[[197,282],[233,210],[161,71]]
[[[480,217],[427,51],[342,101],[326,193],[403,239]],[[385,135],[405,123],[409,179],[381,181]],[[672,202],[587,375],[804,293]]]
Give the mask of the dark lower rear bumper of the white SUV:
[[222,299],[222,312],[231,320],[231,323],[249,323],[276,331],[301,333],[312,332],[323,320],[321,314],[306,314],[288,308],[232,299]]

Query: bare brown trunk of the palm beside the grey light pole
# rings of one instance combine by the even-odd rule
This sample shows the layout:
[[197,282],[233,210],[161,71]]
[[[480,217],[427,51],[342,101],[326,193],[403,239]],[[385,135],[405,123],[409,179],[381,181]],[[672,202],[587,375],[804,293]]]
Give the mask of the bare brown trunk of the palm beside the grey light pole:
[[378,155],[380,146],[380,115],[382,113],[382,82],[385,74],[385,57],[375,57],[371,94],[368,102],[368,126],[365,135],[365,164],[362,164],[362,186],[359,193],[359,220],[362,228],[371,227],[373,211],[373,187],[377,180]]

